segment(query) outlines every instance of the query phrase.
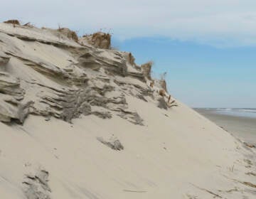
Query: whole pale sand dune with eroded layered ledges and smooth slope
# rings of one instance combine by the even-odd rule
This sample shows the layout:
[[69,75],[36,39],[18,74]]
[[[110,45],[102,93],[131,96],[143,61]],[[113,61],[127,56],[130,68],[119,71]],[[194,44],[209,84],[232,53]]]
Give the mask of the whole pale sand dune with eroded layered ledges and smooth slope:
[[1,199],[255,198],[254,148],[81,41],[0,23]]

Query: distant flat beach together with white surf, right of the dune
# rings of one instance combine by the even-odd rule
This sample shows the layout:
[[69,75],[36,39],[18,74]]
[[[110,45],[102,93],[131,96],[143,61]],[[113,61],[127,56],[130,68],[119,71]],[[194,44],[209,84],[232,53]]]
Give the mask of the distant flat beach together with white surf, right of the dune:
[[195,109],[212,122],[234,136],[250,144],[256,144],[256,117],[250,109]]

